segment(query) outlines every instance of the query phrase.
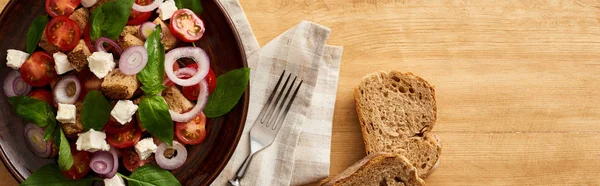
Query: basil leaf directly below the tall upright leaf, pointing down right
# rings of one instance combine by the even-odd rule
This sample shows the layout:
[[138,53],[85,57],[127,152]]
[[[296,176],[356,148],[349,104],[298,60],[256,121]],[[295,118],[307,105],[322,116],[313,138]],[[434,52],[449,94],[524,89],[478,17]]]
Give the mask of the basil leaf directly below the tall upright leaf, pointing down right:
[[165,99],[146,95],[139,104],[138,112],[142,126],[161,141],[173,145],[173,120]]

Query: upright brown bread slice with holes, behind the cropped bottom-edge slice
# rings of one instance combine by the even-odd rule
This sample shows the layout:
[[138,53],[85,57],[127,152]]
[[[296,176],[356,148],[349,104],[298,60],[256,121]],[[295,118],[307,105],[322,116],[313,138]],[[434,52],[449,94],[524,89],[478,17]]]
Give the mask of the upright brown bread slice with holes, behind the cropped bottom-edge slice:
[[367,154],[405,156],[425,178],[439,163],[439,137],[431,133],[437,107],[435,90],[412,73],[378,72],[354,90],[356,111]]

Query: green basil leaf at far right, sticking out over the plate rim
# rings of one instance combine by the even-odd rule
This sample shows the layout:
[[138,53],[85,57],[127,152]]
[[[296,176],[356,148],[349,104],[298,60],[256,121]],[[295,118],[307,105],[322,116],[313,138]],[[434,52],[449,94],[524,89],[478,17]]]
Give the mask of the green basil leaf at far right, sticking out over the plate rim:
[[217,78],[217,87],[208,97],[204,108],[207,118],[216,118],[227,114],[242,97],[250,80],[250,69],[232,70]]

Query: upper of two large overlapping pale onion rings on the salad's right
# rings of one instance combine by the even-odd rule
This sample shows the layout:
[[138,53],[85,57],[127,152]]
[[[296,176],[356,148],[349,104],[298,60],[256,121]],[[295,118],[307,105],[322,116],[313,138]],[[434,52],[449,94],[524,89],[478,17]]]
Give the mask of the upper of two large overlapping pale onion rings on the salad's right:
[[[189,79],[181,79],[173,72],[173,64],[175,64],[178,59],[184,57],[192,58],[198,64],[198,72]],[[209,68],[210,61],[208,55],[206,55],[204,50],[198,47],[176,48],[165,55],[165,72],[167,77],[177,85],[192,86],[200,83],[200,81],[208,74]]]

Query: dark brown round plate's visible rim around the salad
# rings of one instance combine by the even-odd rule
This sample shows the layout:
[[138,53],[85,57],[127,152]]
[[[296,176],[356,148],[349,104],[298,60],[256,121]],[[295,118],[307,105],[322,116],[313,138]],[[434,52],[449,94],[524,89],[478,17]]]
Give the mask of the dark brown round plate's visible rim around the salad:
[[[0,84],[10,68],[6,67],[6,50],[25,50],[25,39],[31,21],[46,14],[42,0],[11,0],[0,15]],[[222,5],[203,0],[200,16],[206,25],[204,37],[196,44],[206,50],[216,75],[247,67],[239,36]],[[248,109],[248,91],[236,107],[221,118],[207,121],[208,136],[201,145],[188,147],[188,159],[173,174],[183,185],[208,185],[223,170],[242,134]],[[0,91],[0,157],[19,182],[41,166],[54,163],[35,156],[25,144],[25,122],[13,111]]]

